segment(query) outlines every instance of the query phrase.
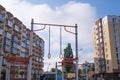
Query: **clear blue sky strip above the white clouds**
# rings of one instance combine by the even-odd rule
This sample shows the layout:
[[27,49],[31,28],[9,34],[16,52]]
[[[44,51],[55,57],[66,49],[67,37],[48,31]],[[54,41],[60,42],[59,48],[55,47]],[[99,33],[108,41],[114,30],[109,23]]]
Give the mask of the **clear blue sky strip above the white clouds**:
[[106,15],[120,15],[120,0],[27,0],[32,4],[48,4],[52,8],[61,6],[69,1],[89,3],[96,8],[97,17]]

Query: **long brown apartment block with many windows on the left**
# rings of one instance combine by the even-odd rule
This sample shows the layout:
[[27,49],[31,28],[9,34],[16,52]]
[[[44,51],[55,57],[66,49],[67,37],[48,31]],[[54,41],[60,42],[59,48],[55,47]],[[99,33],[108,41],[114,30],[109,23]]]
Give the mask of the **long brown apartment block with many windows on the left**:
[[[34,55],[29,56],[30,29],[0,5],[0,80],[27,80],[29,57],[32,57],[31,79],[39,80],[44,67],[44,40],[34,32],[32,45]],[[9,57],[16,57],[16,61],[17,57],[28,60],[28,63],[6,60]]]

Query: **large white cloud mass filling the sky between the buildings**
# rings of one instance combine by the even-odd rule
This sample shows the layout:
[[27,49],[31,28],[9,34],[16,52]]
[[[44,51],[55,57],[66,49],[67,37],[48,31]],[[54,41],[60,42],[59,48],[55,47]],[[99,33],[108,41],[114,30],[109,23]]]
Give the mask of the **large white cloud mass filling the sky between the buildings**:
[[[78,24],[78,40],[79,48],[86,48],[86,54],[80,54],[82,60],[91,60],[93,61],[92,51],[92,25],[95,22],[96,12],[95,8],[88,3],[77,3],[77,2],[68,2],[62,6],[52,9],[47,4],[33,5],[25,0],[0,0],[0,4],[3,5],[7,11],[10,11],[14,16],[18,17],[27,27],[30,27],[31,18],[35,19],[35,22],[40,23],[55,23],[55,24],[67,24],[75,25]],[[36,28],[37,29],[37,28]],[[70,29],[71,30],[71,29]],[[72,29],[74,32],[74,29]],[[44,31],[38,32],[46,41],[46,52],[45,52],[45,64],[49,61],[46,59],[47,47],[48,47],[48,28]],[[62,42],[63,47],[67,46],[69,42],[72,44],[74,50],[74,35],[67,33],[62,28]],[[51,29],[51,45],[53,52],[59,52],[59,29],[53,27]],[[58,50],[57,50],[58,49]],[[54,51],[55,50],[55,51]],[[57,55],[54,53],[52,55]],[[89,57],[88,57],[89,56]],[[50,60],[51,64],[57,61],[57,58]],[[81,61],[80,62],[84,62]],[[46,66],[46,65],[45,65]],[[52,66],[53,67],[53,66]],[[46,68],[44,68],[46,70]]]

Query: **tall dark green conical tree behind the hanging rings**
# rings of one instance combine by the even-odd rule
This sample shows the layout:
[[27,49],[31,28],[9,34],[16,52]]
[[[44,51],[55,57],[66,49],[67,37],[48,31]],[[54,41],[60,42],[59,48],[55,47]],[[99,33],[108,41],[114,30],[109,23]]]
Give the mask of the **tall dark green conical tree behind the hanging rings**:
[[[72,48],[71,48],[71,44],[68,43],[68,46],[64,49],[64,60],[65,59],[68,59],[68,58],[73,58],[73,51],[72,51]],[[67,66],[67,65],[73,65],[73,62],[66,62],[65,63],[65,71],[67,73],[69,72],[73,72],[73,66]]]

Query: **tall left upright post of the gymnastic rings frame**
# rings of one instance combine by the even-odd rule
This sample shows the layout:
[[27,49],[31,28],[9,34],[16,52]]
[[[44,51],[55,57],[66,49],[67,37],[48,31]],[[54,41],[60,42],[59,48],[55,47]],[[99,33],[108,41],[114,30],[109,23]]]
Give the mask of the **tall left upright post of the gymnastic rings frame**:
[[30,47],[29,47],[29,65],[28,65],[28,71],[27,71],[27,80],[31,80],[31,70],[32,70],[32,47],[33,47],[33,23],[34,20],[31,21],[31,31],[30,31]]

